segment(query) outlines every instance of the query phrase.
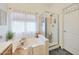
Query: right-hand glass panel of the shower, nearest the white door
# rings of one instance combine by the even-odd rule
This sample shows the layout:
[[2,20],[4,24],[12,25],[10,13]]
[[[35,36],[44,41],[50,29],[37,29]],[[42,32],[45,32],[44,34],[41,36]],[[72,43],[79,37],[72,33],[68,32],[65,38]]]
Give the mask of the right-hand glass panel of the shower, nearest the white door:
[[52,39],[49,40],[50,46],[51,45],[57,45],[59,43],[59,21],[58,21],[58,15],[52,16]]

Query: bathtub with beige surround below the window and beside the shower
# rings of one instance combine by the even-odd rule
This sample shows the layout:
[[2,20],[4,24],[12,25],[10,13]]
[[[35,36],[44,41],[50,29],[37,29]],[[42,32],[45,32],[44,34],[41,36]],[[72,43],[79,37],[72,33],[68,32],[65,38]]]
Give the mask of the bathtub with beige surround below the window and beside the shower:
[[[23,42],[23,41],[22,41]],[[48,55],[48,39],[41,38],[26,38],[23,44],[20,41],[19,45],[13,51],[16,55]],[[15,46],[15,45],[13,45]]]

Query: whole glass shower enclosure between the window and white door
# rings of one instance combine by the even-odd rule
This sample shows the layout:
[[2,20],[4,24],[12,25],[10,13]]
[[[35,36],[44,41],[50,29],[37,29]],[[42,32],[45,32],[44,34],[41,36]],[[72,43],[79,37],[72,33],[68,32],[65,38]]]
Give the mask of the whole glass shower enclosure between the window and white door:
[[51,14],[41,18],[42,32],[49,39],[49,47],[59,44],[59,15]]

